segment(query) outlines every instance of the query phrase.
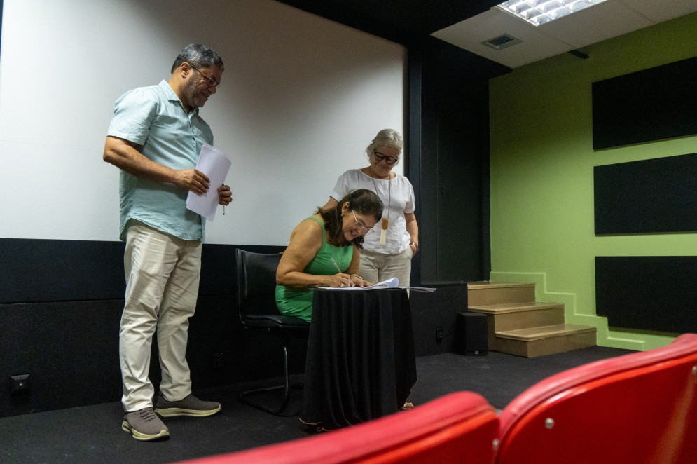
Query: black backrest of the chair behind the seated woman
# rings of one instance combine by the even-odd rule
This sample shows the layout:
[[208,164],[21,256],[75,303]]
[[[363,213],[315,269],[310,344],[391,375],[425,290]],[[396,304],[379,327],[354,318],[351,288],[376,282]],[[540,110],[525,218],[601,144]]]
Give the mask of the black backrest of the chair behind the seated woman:
[[247,315],[280,314],[276,307],[279,253],[254,253],[237,248],[237,304],[242,322]]

